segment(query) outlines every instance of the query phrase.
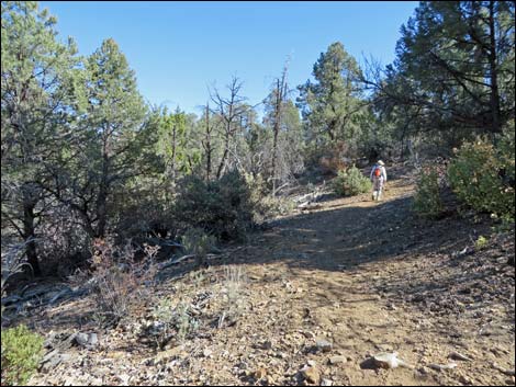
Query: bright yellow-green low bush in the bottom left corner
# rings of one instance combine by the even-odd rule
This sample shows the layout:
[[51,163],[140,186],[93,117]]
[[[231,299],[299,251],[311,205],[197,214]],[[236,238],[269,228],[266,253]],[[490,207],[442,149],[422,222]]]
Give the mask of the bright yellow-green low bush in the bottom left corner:
[[25,326],[2,330],[2,386],[26,385],[42,358],[43,341]]

